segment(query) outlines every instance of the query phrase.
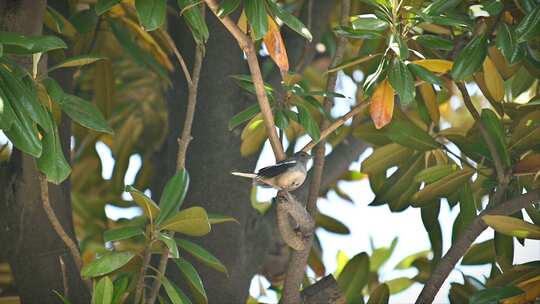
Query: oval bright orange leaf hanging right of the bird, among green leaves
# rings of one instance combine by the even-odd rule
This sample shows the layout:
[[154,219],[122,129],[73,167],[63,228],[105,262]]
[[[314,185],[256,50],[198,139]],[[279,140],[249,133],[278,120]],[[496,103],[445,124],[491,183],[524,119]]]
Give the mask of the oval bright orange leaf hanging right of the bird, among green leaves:
[[381,82],[371,96],[369,113],[375,123],[375,128],[380,129],[392,121],[394,112],[394,89],[387,79]]

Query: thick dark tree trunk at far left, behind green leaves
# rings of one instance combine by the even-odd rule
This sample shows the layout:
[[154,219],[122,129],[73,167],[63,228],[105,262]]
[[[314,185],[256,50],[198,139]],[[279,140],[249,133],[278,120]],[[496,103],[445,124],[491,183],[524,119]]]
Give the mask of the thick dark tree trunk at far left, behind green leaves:
[[[0,28],[39,35],[45,6],[45,1],[0,1]],[[59,129],[64,153],[69,155],[69,121],[64,120]],[[88,303],[89,292],[78,269],[43,211],[35,160],[14,149],[9,163],[2,169],[0,240],[7,251],[22,302],[55,303],[58,298],[53,290],[56,290],[61,294],[67,292],[73,303]],[[62,226],[74,239],[69,188],[69,181],[60,186],[49,184],[49,195]]]

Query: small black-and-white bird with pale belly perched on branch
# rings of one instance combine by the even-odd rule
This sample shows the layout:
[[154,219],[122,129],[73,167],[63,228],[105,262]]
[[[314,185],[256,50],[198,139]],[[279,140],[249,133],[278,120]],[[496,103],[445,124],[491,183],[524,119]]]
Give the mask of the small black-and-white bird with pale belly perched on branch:
[[259,186],[277,190],[293,191],[306,180],[307,163],[312,156],[304,151],[296,152],[292,157],[264,167],[257,173],[231,172],[232,175],[253,179]]

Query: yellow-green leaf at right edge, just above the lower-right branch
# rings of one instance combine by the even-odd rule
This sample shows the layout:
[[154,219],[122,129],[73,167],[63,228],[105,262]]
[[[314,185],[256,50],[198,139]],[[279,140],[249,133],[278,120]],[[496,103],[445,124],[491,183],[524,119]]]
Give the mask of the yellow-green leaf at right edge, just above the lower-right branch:
[[484,215],[482,220],[495,231],[517,238],[540,239],[540,227],[503,215]]

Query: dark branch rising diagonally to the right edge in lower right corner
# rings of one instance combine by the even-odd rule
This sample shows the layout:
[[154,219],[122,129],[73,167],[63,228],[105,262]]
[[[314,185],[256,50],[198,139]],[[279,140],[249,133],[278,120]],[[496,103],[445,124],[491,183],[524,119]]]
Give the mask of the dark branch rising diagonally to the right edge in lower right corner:
[[437,264],[437,267],[424,285],[418,299],[416,299],[416,304],[433,302],[433,299],[444,283],[444,280],[448,277],[452,269],[454,269],[459,259],[463,257],[480,233],[487,228],[486,223],[482,220],[484,215],[510,215],[539,201],[540,189],[536,189],[510,199],[502,204],[495,205],[480,213],[463,234],[459,236],[452,247],[450,247],[439,264]]

